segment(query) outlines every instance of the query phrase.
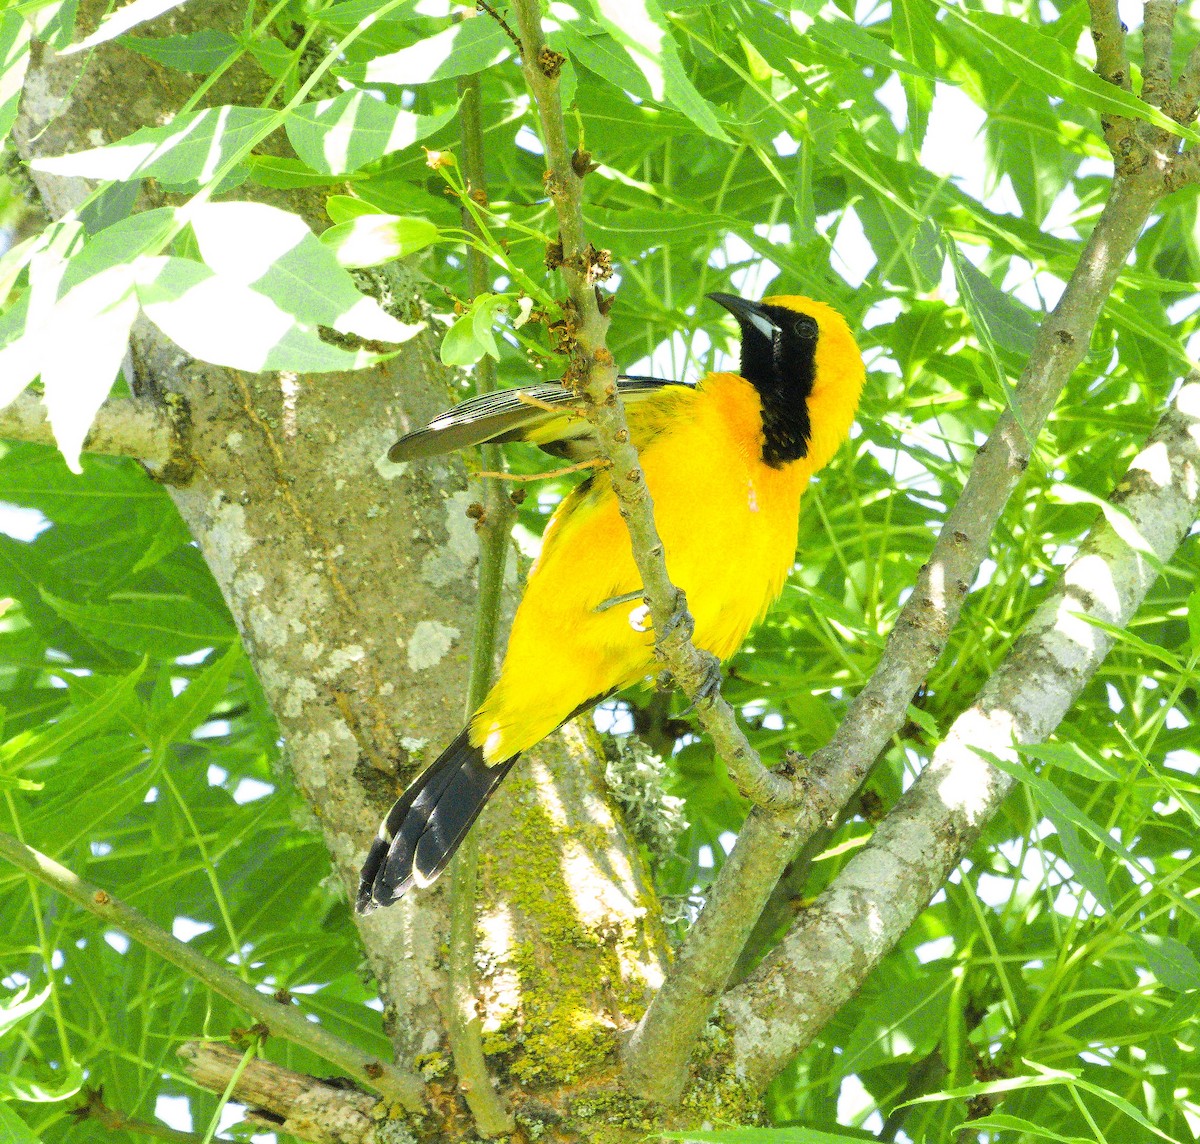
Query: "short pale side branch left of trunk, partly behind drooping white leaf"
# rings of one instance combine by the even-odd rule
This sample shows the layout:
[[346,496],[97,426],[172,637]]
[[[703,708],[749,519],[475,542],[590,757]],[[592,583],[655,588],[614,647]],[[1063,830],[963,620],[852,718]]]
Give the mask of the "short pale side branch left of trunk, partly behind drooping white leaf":
[[[84,442],[84,453],[136,457],[152,469],[191,469],[187,451],[187,407],[173,397],[162,403],[142,397],[110,397],[101,407]],[[54,445],[46,406],[38,394],[25,390],[0,409],[0,438]],[[180,484],[178,473],[173,484]]]

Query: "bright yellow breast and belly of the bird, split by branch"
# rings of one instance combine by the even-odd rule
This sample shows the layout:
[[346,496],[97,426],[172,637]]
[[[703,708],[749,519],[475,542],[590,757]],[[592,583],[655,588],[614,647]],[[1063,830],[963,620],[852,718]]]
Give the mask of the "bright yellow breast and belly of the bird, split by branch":
[[[642,450],[642,467],[695,642],[726,659],[782,589],[811,467],[762,463],[758,399],[734,375],[709,375],[697,390],[665,400],[673,403],[668,427]],[[583,703],[654,670],[642,601],[596,611],[640,587],[617,499],[599,477],[550,521],[500,677],[472,720],[470,739],[488,762],[526,750]]]

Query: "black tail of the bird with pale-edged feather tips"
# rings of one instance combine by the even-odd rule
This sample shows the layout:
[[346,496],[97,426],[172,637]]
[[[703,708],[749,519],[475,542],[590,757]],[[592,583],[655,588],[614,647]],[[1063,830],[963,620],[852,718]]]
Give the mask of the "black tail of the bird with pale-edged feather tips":
[[463,731],[422,771],[396,799],[371,843],[359,880],[359,914],[391,905],[413,882],[432,882],[516,760],[514,755],[487,766],[482,749],[472,747]]

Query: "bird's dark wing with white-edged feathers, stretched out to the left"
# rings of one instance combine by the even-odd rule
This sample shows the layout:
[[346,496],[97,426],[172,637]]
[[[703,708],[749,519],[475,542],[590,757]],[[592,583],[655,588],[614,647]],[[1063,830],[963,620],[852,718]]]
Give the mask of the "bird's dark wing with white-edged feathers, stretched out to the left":
[[[622,400],[636,405],[670,385],[656,377],[617,378]],[[688,387],[691,388],[691,387]],[[415,461],[470,445],[524,441],[554,456],[595,456],[592,426],[572,407],[578,397],[562,385],[522,385],[472,397],[439,413],[424,429],[406,433],[388,450],[389,461]],[[547,408],[547,406],[550,408]]]

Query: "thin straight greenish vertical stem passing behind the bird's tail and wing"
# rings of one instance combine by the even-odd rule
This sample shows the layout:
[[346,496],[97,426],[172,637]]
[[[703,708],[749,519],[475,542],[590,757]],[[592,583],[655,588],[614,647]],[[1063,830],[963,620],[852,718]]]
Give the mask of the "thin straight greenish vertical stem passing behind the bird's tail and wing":
[[[494,16],[494,13],[492,13]],[[499,19],[499,17],[496,17]],[[508,25],[500,20],[508,30]],[[509,31],[511,36],[511,31]],[[462,96],[460,125],[462,128],[463,163],[467,193],[487,197],[484,167],[484,120],[480,108],[479,76],[468,76],[458,84]],[[479,232],[474,216],[463,208],[463,227],[472,234]],[[470,277],[472,299],[488,288],[487,259],[476,245],[467,251],[467,272]],[[496,364],[487,355],[475,370],[478,393],[496,389]],[[504,478],[500,453],[496,445],[480,450],[491,472],[484,478]],[[476,523],[479,535],[479,595],[475,605],[475,637],[470,653],[470,676],[467,682],[467,711],[470,719],[487,694],[496,658],[496,629],[500,613],[504,586],[504,563],[509,551],[509,529],[512,522],[512,502],[499,481],[485,479],[484,513]],[[475,1118],[475,1128],[482,1137],[504,1136],[515,1127],[492,1086],[492,1078],[484,1059],[484,1043],[475,976],[475,882],[479,867],[479,832],[470,831],[450,866],[450,950],[446,958],[446,987],[450,1007],[446,1019],[450,1052],[454,1055],[458,1089]]]

